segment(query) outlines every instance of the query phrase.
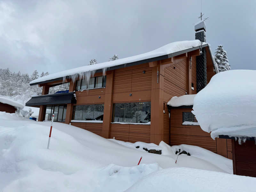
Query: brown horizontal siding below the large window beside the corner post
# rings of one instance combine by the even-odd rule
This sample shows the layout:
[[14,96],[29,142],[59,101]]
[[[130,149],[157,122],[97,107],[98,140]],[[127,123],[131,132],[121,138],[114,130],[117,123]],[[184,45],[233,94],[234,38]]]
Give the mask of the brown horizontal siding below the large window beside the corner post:
[[115,137],[117,140],[125,142],[142,141],[150,142],[150,125],[136,124],[111,124],[110,138]]

